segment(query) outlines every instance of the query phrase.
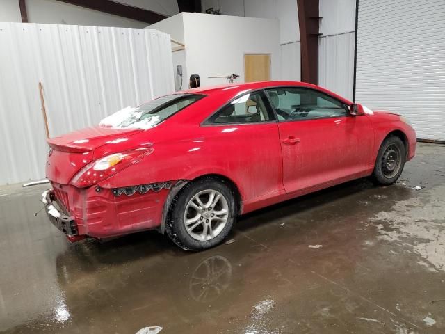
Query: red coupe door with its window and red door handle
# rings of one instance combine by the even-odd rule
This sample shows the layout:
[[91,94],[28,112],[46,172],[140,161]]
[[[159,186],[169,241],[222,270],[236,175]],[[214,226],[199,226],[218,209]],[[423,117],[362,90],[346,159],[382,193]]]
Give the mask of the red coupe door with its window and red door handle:
[[279,118],[283,184],[287,193],[364,176],[372,164],[367,116],[313,88],[266,90]]

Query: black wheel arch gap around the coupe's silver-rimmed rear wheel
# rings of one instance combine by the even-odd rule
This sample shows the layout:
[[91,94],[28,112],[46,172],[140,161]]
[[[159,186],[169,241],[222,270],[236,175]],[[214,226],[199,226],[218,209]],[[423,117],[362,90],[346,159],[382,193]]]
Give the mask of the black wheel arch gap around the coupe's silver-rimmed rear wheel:
[[203,175],[200,175],[200,176],[197,176],[197,177],[193,178],[192,180],[178,180],[175,183],[175,185],[172,186],[172,189],[170,189],[170,193],[168,194],[167,198],[165,199],[165,203],[163,205],[161,226],[159,228],[159,232],[161,232],[162,234],[164,234],[164,232],[165,232],[165,223],[167,222],[168,214],[170,212],[170,207],[172,205],[173,199],[179,193],[181,193],[181,191],[184,189],[184,187],[187,184],[190,184],[192,182],[196,182],[198,180],[206,179],[206,178],[207,179],[216,180],[216,181],[221,182],[221,183],[223,183],[223,184],[225,184],[225,185],[227,185],[229,187],[229,189],[234,194],[234,200],[235,200],[235,204],[236,204],[236,213],[237,214],[241,214],[242,209],[243,209],[243,202],[241,200],[240,189],[238,188],[236,183],[232,179],[230,179],[229,177],[227,177],[225,175],[222,175],[222,174],[218,174],[218,173],[203,174]]

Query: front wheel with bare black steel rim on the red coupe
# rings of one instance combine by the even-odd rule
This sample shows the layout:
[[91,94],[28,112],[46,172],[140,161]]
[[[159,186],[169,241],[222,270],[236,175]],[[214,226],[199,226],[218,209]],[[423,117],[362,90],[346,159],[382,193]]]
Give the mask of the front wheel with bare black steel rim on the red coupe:
[[372,180],[376,184],[389,185],[396,182],[403,172],[406,149],[398,136],[388,136],[378,150]]

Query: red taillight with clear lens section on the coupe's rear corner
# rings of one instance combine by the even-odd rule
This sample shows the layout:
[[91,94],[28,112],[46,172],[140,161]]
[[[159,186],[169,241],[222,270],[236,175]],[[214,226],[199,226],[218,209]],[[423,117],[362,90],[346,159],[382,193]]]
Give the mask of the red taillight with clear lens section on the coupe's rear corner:
[[71,184],[79,188],[97,184],[106,177],[118,173],[120,170],[135,164],[143,157],[153,152],[152,148],[138,148],[136,150],[107,155],[90,162],[74,175]]

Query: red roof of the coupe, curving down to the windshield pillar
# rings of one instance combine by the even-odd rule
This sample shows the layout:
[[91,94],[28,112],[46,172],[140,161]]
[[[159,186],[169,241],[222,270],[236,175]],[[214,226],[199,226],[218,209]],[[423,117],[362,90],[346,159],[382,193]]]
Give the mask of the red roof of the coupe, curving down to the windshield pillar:
[[320,86],[316,86],[313,84],[307,84],[306,82],[300,82],[300,81],[257,81],[257,82],[248,82],[245,84],[225,84],[225,85],[218,85],[218,86],[205,86],[205,87],[191,88],[191,89],[187,89],[187,90],[181,90],[177,93],[179,93],[179,94],[213,95],[216,93],[220,93],[224,90],[231,90],[233,93],[236,94],[238,92],[242,92],[243,90],[271,88],[271,87],[277,87],[277,86],[298,86],[298,87],[315,88],[317,90],[321,90],[324,93],[327,93],[328,95],[337,97],[337,99],[339,99],[347,104],[352,103],[345,97],[337,95],[337,94],[331,92],[330,90],[327,90],[325,88],[322,88]]

